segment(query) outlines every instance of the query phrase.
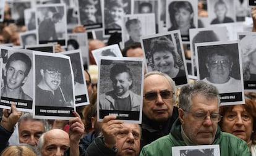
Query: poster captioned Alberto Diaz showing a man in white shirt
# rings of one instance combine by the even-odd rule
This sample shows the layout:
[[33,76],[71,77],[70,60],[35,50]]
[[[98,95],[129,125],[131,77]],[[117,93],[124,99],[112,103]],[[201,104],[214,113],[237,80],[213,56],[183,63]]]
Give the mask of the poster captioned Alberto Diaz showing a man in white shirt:
[[195,44],[197,77],[216,86],[221,105],[244,104],[241,49],[236,41]]

